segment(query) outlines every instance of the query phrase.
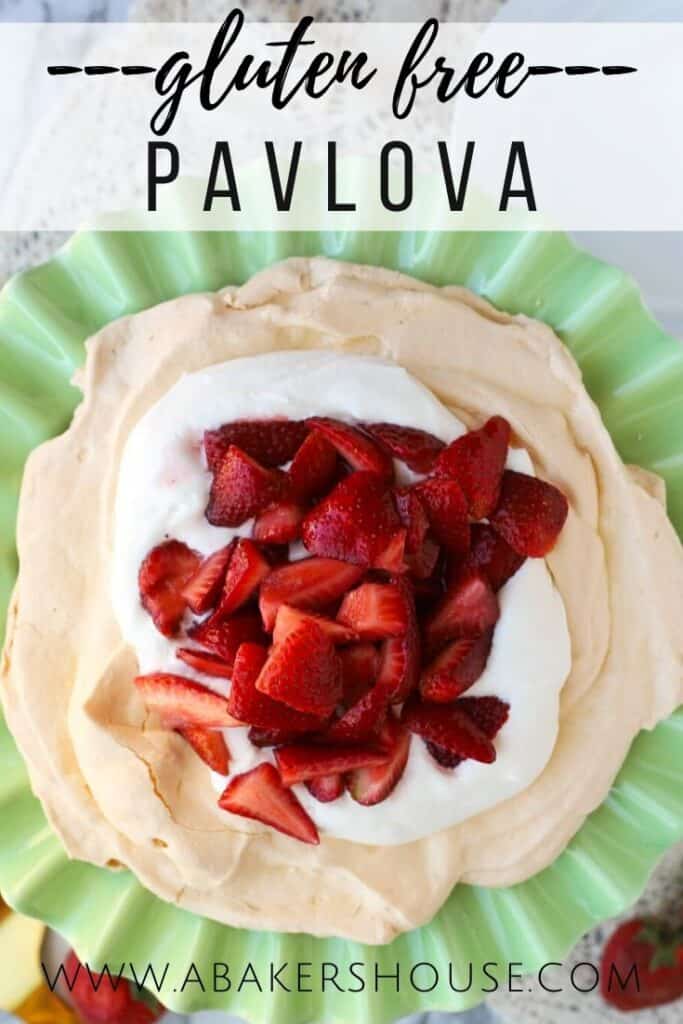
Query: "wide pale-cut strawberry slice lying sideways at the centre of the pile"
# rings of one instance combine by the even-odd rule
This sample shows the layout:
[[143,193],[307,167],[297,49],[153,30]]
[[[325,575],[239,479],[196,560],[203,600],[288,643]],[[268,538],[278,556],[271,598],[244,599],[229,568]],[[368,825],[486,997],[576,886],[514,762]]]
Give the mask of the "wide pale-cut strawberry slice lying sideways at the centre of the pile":
[[271,631],[278,608],[322,610],[338,601],[358,582],[364,570],[333,558],[304,558],[274,569],[261,584],[259,608],[266,630]]

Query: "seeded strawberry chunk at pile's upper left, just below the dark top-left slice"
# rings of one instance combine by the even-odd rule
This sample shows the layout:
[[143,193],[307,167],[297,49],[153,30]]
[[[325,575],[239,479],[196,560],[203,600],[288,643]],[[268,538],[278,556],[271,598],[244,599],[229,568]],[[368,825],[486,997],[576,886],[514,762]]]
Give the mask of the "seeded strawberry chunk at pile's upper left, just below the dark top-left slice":
[[285,496],[287,477],[231,444],[218,463],[206,517],[212,526],[240,526]]

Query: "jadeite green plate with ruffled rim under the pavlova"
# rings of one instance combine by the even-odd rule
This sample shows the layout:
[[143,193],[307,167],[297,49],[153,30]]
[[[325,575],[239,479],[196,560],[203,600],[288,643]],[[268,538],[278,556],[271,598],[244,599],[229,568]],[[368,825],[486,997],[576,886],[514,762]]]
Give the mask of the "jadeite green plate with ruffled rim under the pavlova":
[[[623,458],[660,473],[669,512],[683,529],[683,346],[650,318],[634,283],[572,247],[557,233],[83,233],[57,256],[11,281],[0,295],[1,594],[3,608],[16,571],[14,515],[29,451],[63,430],[78,401],[69,380],[84,340],[102,325],[187,292],[245,281],[275,260],[325,253],[395,267],[437,285],[463,284],[511,312],[551,324],[581,364],[589,391]],[[45,680],[49,685],[49,680]],[[643,733],[604,804],[547,870],[511,889],[458,886],[425,928],[388,946],[317,940],[225,928],[164,903],[128,872],[70,862],[52,835],[7,731],[0,732],[0,887],[9,903],[60,931],[93,967],[109,961],[171,968],[162,999],[178,1011],[223,1009],[252,1022],[383,1024],[419,1010],[463,1010],[482,998],[467,987],[470,963],[510,962],[533,971],[559,961],[595,922],[624,910],[640,893],[654,862],[683,837],[683,710]],[[296,898],[296,894],[293,894]],[[353,962],[383,973],[402,972],[380,993],[274,994],[267,984],[237,990],[251,962],[340,968]],[[230,965],[229,992],[213,992],[212,965]],[[411,966],[438,965],[431,991],[410,984]],[[182,989],[197,965],[197,982]],[[515,971],[519,969],[515,968]],[[267,971],[264,972],[267,974]],[[281,977],[286,977],[282,975]],[[291,976],[290,976],[291,977]],[[433,983],[418,970],[418,987]],[[353,979],[346,981],[354,985]],[[306,987],[305,983],[304,986]]]

